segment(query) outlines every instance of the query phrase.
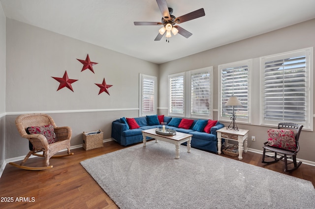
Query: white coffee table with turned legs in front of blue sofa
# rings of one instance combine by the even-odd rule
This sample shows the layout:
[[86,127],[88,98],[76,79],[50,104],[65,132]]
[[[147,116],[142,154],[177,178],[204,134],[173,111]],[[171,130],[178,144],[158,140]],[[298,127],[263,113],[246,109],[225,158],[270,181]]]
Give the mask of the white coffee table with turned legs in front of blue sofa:
[[146,146],[147,136],[151,138],[155,138],[156,143],[158,143],[158,140],[161,140],[161,141],[166,141],[166,142],[175,144],[176,159],[179,158],[179,146],[180,144],[184,142],[187,142],[187,152],[190,153],[190,141],[191,141],[192,134],[176,132],[176,135],[165,136],[165,135],[157,134],[156,129],[148,129],[148,130],[142,131],[142,136],[143,136],[144,147]]

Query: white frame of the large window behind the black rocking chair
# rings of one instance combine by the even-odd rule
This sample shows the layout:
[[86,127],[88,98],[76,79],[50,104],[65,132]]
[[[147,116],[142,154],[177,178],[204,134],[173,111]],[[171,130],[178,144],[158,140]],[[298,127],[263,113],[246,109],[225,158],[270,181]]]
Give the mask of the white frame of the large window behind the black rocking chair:
[[[305,107],[306,107],[306,113],[305,113],[305,123],[296,122],[299,125],[303,125],[304,130],[313,131],[313,47],[301,49],[301,50],[295,50],[290,52],[283,52],[283,53],[277,53],[273,55],[268,56],[262,56],[260,57],[260,78],[261,78],[261,85],[260,85],[260,92],[261,92],[261,103],[260,103],[260,125],[264,126],[277,126],[279,122],[292,122],[294,121],[276,121],[276,120],[266,120],[264,119],[265,109],[264,109],[264,89],[265,89],[265,62],[268,61],[276,61],[279,59],[287,59],[287,58],[293,58],[298,56],[305,56]],[[312,80],[311,80],[312,79]]]

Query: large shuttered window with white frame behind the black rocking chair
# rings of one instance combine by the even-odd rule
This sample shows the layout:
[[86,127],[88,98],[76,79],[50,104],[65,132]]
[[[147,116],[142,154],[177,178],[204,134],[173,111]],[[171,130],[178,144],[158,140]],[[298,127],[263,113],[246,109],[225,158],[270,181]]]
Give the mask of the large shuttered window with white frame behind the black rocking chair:
[[261,123],[294,122],[313,130],[313,48],[261,57]]

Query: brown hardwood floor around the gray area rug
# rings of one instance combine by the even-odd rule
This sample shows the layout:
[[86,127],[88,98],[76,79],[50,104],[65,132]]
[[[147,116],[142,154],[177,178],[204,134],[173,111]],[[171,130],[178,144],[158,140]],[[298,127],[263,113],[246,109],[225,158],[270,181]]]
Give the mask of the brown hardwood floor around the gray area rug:
[[[44,171],[27,171],[7,164],[0,178],[0,208],[117,209],[116,204],[98,186],[80,162],[124,148],[126,147],[110,141],[104,143],[103,148],[89,151],[83,148],[74,149],[71,150],[73,156],[51,158],[50,164],[54,167]],[[222,156],[229,157],[224,154]],[[229,158],[238,160],[238,157]],[[243,154],[242,161],[284,173],[283,162],[265,165],[261,163],[260,154],[248,152]],[[44,166],[44,159],[34,157],[29,159],[26,165]],[[296,171],[285,174],[311,181],[315,186],[314,166],[302,163]],[[11,197],[13,202],[3,202],[11,200]]]

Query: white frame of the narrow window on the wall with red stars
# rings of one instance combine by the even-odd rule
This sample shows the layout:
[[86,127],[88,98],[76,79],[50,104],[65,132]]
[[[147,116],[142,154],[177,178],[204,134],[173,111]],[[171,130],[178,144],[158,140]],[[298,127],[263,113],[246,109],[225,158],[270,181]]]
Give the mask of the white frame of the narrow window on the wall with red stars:
[[[153,111],[144,112],[143,111],[143,81],[144,79],[150,79],[154,81],[154,101],[153,101]],[[139,74],[139,117],[146,115],[155,115],[157,114],[157,104],[158,104],[158,78],[156,76],[150,76],[145,74]]]

